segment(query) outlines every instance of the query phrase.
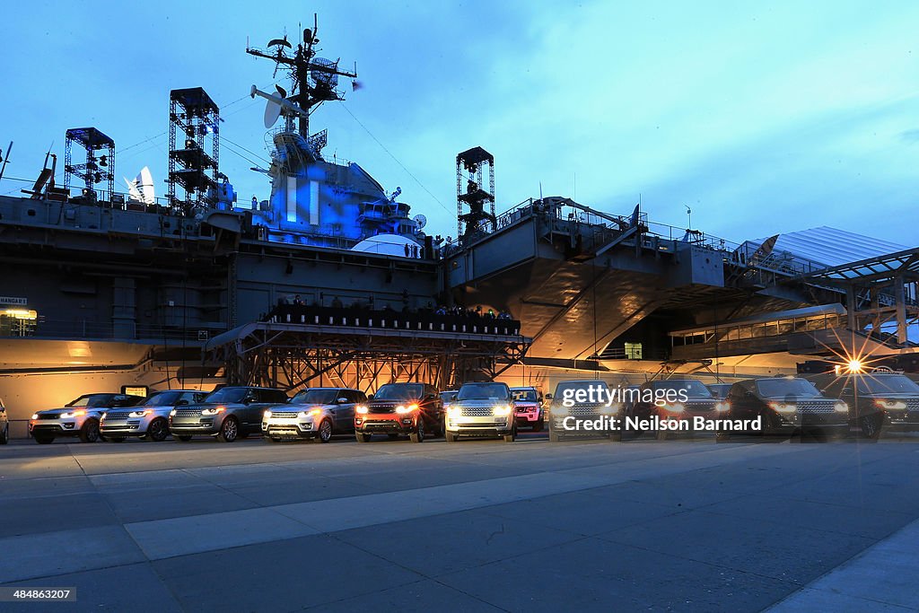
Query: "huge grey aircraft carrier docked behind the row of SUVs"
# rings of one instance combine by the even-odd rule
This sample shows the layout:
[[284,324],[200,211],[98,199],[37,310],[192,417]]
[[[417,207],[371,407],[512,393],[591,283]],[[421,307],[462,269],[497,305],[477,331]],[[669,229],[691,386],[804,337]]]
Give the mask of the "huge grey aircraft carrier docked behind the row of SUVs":
[[564,197],[497,214],[494,157],[478,146],[457,155],[457,238],[425,233],[399,188],[323,155],[311,113],[357,74],[318,55],[317,28],[297,39],[246,49],[288,77],[251,91],[266,100],[270,198],[237,202],[201,88],[169,97],[165,198],[143,172],[116,190],[117,148],[96,128],[66,132],[62,185],[49,153],[31,189],[0,196],[14,436],[35,410],[122,386],[720,378],[855,346],[912,351],[919,258],[901,245],[864,239],[840,261]]

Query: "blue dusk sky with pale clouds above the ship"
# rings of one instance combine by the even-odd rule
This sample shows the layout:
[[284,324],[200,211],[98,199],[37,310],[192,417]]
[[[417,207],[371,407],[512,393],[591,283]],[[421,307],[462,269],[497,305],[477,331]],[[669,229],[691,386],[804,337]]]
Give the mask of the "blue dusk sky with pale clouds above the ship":
[[481,145],[499,212],[541,183],[618,214],[641,195],[680,227],[688,205],[736,242],[830,225],[919,243],[914,2],[193,4],[7,3],[0,194],[28,187],[7,177],[38,176],[51,142],[62,183],[64,131],[95,126],[122,190],[149,165],[165,195],[169,90],[202,86],[225,119],[221,171],[241,203],[267,199],[249,170],[267,165],[264,101],[247,94],[288,84],[246,40],[295,40],[316,12],[320,55],[357,62],[363,87],[345,83],[346,108],[323,105],[312,130],[327,157],[402,187],[429,233],[456,235],[456,154]]

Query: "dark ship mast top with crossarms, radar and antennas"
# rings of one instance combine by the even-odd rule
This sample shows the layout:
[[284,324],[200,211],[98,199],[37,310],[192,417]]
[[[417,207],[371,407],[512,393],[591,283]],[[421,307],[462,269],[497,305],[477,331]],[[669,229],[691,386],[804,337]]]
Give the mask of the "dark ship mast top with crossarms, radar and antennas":
[[[287,71],[292,87],[288,95],[284,90],[278,87],[278,93],[296,104],[304,112],[297,113],[299,118],[300,135],[309,140],[310,138],[310,113],[312,108],[322,104],[327,100],[344,100],[345,95],[337,89],[338,77],[356,78],[357,70],[349,72],[338,68],[339,60],[334,62],[324,58],[316,57],[318,49],[316,45],[319,38],[316,36],[318,29],[318,19],[315,15],[312,17],[313,26],[303,30],[303,40],[297,44],[296,51],[287,40],[287,35],[282,39],[270,40],[267,49],[274,48],[274,51],[262,51],[246,47],[245,52],[255,57],[265,58],[275,62],[275,75],[278,70]],[[282,111],[284,112],[284,111]],[[289,117],[289,114],[285,113]]]

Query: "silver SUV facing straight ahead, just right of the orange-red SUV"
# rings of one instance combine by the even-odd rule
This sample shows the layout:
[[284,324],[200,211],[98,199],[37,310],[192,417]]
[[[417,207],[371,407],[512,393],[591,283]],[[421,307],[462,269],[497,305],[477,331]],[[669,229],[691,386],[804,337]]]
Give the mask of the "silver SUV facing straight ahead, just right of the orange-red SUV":
[[516,438],[514,398],[506,383],[466,383],[447,410],[447,442],[459,437]]

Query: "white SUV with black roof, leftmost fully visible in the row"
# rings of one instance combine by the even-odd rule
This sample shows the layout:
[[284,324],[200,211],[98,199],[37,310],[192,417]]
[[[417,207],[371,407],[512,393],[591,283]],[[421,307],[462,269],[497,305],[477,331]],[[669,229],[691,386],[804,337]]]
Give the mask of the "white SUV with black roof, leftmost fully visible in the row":
[[99,419],[110,408],[134,406],[142,396],[123,393],[87,393],[60,409],[39,411],[28,420],[28,436],[47,445],[57,437],[80,437],[84,443],[99,440]]

